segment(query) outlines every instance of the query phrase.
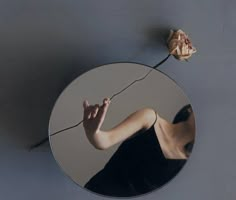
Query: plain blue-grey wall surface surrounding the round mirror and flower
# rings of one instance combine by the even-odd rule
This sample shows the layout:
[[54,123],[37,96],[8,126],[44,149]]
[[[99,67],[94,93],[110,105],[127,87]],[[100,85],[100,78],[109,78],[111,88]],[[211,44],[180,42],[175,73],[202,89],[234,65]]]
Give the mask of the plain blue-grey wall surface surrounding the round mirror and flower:
[[160,70],[195,109],[197,138],[185,169],[154,200],[236,197],[236,2],[234,0],[1,0],[0,196],[4,200],[105,199],[72,183],[48,145],[50,111],[63,88],[104,63],[163,59],[170,28],[198,49]]

